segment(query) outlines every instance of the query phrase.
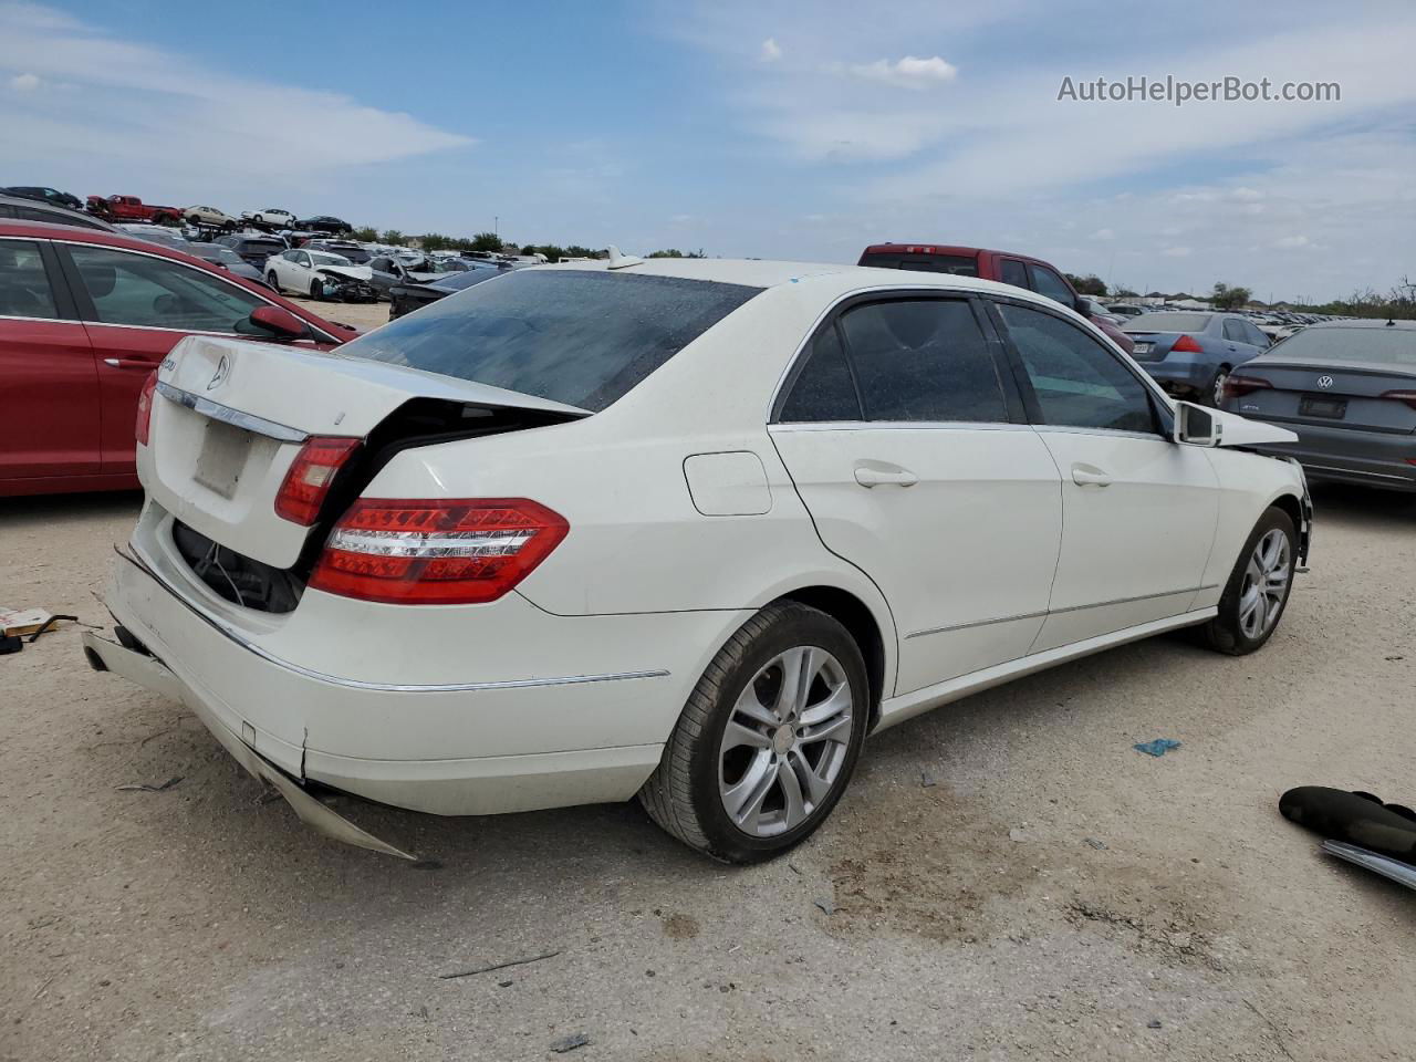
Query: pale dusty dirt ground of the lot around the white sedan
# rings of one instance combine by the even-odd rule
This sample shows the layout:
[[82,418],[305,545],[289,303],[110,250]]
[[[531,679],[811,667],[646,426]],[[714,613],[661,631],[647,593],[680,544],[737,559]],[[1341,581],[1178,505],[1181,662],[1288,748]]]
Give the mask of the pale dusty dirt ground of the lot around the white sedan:
[[[1416,895],[1276,809],[1416,801],[1416,501],[1317,501],[1257,656],[1157,639],[905,724],[750,869],[636,806],[348,801],[440,868],[340,847],[48,634],[0,658],[0,1058],[1416,1058]],[[0,501],[0,600],[105,622],[136,511]]]

